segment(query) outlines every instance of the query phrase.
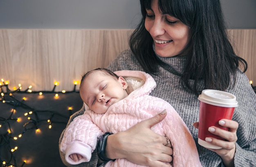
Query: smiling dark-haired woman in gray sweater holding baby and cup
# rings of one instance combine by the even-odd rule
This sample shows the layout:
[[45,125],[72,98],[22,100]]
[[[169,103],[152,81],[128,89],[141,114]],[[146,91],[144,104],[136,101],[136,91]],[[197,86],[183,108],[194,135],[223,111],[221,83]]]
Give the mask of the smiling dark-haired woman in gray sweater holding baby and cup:
[[[173,105],[196,143],[198,94],[210,88],[236,95],[239,106],[232,120],[220,121],[229,131],[209,128],[211,133],[226,141],[206,138],[222,149],[207,149],[197,144],[200,161],[206,167],[255,165],[256,94],[243,73],[247,63],[235,55],[228,40],[220,1],[140,2],[142,19],[130,38],[130,50],[122,52],[108,68],[150,73],[157,83],[150,95]],[[76,114],[81,113],[83,109]],[[170,166],[166,163],[172,161],[172,149],[163,146],[166,145],[166,138],[150,130],[163,117],[157,115],[127,131],[108,135],[106,149],[99,153],[100,158],[126,158],[139,165]],[[80,165],[96,166],[97,153],[93,154],[95,156],[90,163]]]

